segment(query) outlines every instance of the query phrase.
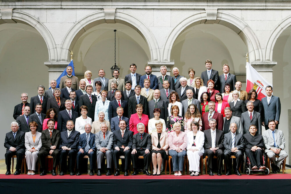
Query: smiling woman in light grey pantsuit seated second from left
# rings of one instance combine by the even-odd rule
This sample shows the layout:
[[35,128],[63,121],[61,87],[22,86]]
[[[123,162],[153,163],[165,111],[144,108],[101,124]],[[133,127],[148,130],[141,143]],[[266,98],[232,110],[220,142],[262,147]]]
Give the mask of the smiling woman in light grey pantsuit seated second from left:
[[35,121],[29,123],[30,132],[26,132],[25,139],[25,159],[28,168],[28,175],[35,175],[36,161],[38,158],[38,152],[42,146],[41,133],[37,132],[38,124]]

